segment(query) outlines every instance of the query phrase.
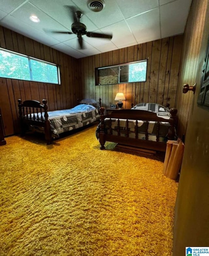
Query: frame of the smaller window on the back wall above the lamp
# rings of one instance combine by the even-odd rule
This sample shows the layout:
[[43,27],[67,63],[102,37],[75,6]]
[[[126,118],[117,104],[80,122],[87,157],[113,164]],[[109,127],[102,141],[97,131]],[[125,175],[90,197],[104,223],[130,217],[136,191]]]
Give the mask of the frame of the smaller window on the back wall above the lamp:
[[[121,63],[121,64],[117,64],[117,65],[111,65],[111,66],[104,66],[104,67],[98,67],[95,68],[95,85],[99,86],[99,85],[111,85],[111,84],[125,84],[125,83],[143,83],[147,81],[147,65],[146,65],[146,78],[143,81],[132,81],[132,82],[120,82],[120,66],[126,66],[126,65],[131,65],[131,64],[136,64],[139,62],[146,62],[146,64],[148,65],[148,59],[145,60],[137,60],[137,61],[132,61],[132,62],[126,62],[126,63]],[[119,68],[119,72],[118,72],[118,83],[109,83],[109,84],[100,84],[99,83],[99,74],[98,71],[101,69],[105,69],[105,68],[112,68],[112,67],[118,67]]]

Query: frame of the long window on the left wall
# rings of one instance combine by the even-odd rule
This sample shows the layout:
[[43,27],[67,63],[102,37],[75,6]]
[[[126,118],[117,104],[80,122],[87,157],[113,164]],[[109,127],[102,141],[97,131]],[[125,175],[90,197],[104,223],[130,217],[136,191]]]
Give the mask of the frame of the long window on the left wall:
[[[10,50],[8,50],[8,49],[4,49],[4,48],[1,48],[1,47],[0,47],[0,50],[1,50],[1,51],[5,51],[5,52],[9,52],[9,53],[14,54],[14,55],[19,55],[19,56],[22,56],[22,57],[26,58],[26,59],[28,60],[28,69],[29,69],[29,74],[30,74],[30,80],[21,79],[21,78],[12,78],[12,77],[2,77],[2,78],[17,79],[17,80],[23,80],[23,81],[39,82],[39,83],[58,84],[58,85],[61,84],[59,65],[57,65],[57,64],[55,64],[55,63],[52,63],[52,62],[49,62],[49,61],[40,60],[40,59],[31,57],[31,56],[28,56],[28,55],[25,55],[25,54],[22,54],[22,53],[10,51]],[[51,65],[51,66],[56,66],[56,71],[57,71],[57,72],[56,72],[56,75],[57,75],[57,81],[58,81],[58,82],[57,82],[57,83],[52,83],[52,82],[48,82],[48,81],[44,81],[44,82],[43,82],[43,81],[34,80],[34,79],[33,79],[32,67],[31,67],[31,60],[35,60],[35,61],[37,61],[37,62],[46,63],[46,64]],[[1,76],[0,76],[0,77],[1,77]]]

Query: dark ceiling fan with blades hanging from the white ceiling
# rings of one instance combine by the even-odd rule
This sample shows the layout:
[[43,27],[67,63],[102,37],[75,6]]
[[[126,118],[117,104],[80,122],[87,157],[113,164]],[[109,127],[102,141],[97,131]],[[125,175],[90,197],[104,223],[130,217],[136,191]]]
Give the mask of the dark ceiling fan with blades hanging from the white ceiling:
[[105,38],[105,39],[112,39],[111,34],[102,34],[102,33],[95,33],[87,31],[87,27],[80,22],[80,18],[82,17],[83,13],[79,10],[75,11],[74,7],[66,6],[70,9],[71,15],[73,14],[73,23],[71,25],[72,32],[68,31],[52,31],[53,33],[60,33],[60,34],[76,34],[78,38],[78,43],[80,49],[84,49],[83,46],[83,35],[87,37],[96,37],[96,38]]

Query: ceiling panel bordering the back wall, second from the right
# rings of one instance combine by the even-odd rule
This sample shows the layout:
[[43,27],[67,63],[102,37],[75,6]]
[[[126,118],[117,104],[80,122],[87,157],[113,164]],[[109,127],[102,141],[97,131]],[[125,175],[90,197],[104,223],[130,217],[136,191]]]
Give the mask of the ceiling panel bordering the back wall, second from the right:
[[138,43],[145,43],[161,38],[158,8],[127,19],[127,23]]

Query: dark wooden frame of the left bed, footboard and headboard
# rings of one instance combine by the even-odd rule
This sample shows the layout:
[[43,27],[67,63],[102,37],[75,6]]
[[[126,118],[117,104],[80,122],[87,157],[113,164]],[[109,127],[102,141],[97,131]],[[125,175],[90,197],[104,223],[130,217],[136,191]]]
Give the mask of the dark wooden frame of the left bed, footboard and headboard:
[[[77,100],[78,101],[78,100]],[[18,99],[18,108],[19,108],[19,120],[20,120],[20,128],[21,128],[21,136],[24,136],[26,132],[26,126],[34,125],[38,127],[44,128],[44,135],[47,145],[52,143],[52,132],[50,128],[50,121],[48,119],[49,115],[47,112],[47,100],[42,100],[43,105],[40,104],[37,100],[25,100],[22,102],[21,99]],[[78,101],[79,104],[79,101]],[[83,103],[84,104],[84,103]],[[101,98],[99,98],[99,108],[101,108]],[[94,104],[92,104],[94,105]],[[35,114],[38,118],[35,120]]]

